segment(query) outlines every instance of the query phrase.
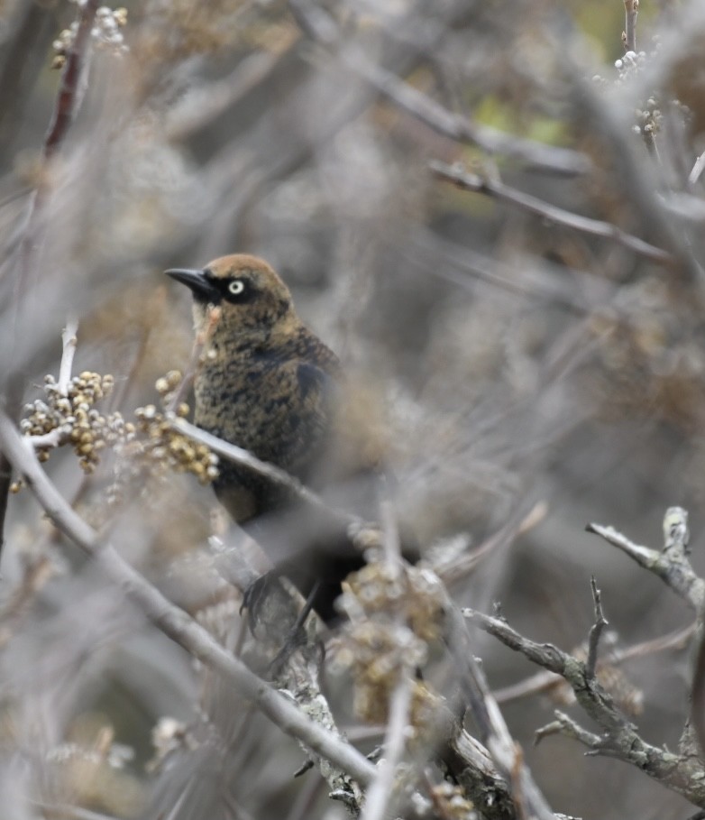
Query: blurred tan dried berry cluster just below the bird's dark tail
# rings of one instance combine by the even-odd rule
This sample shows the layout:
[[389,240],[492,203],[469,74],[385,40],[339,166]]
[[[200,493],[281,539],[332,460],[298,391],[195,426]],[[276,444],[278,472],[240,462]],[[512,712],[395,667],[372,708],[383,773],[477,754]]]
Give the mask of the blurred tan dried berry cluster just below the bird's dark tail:
[[[340,605],[350,621],[335,662],[352,671],[356,713],[385,723],[402,675],[413,676],[425,664],[428,641],[440,635],[438,581],[421,567],[374,561],[348,576]],[[435,696],[422,681],[413,686],[410,725],[421,730],[432,720]]]

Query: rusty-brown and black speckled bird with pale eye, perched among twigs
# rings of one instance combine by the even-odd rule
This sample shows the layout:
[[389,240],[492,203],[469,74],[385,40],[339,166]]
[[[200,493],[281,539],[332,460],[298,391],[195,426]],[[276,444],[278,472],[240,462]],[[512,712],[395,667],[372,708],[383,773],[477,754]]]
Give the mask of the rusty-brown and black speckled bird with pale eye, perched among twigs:
[[[298,317],[284,281],[243,253],[166,273],[191,290],[195,330],[206,337],[194,380],[197,427],[365,517],[377,492],[370,479],[380,475],[377,446],[348,423],[342,364]],[[218,318],[208,326],[213,307]],[[343,578],[363,563],[340,519],[224,460],[214,489],[235,523],[273,548],[275,572],[334,622]]]

